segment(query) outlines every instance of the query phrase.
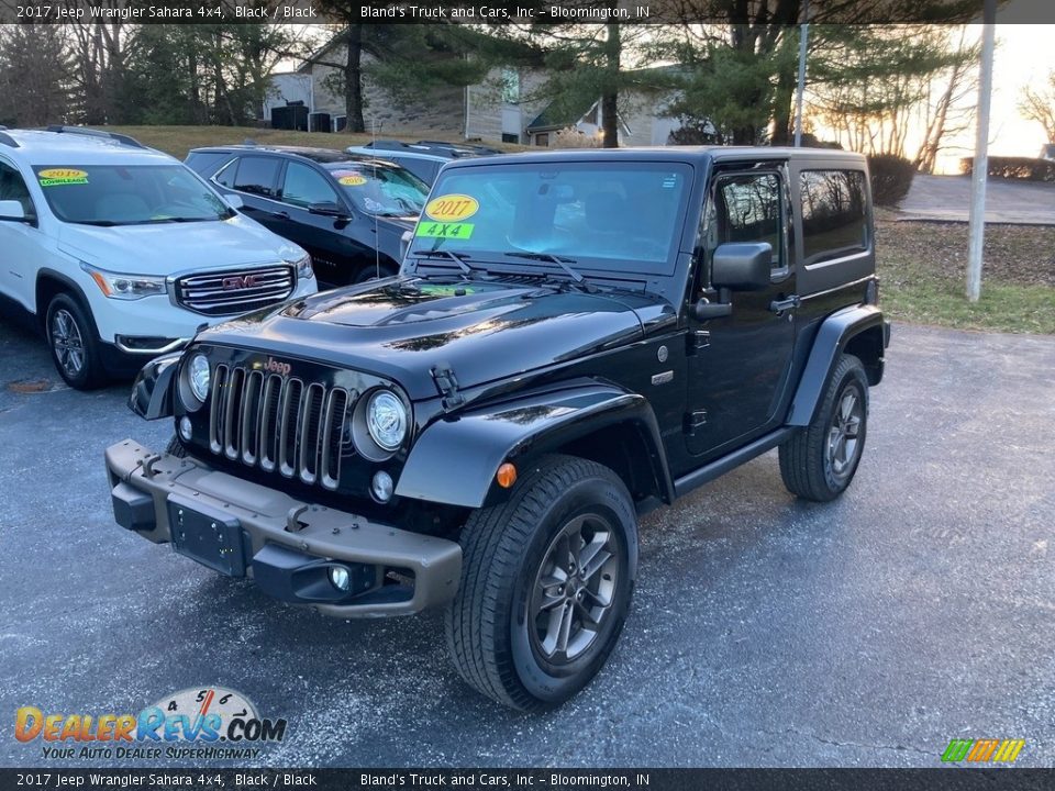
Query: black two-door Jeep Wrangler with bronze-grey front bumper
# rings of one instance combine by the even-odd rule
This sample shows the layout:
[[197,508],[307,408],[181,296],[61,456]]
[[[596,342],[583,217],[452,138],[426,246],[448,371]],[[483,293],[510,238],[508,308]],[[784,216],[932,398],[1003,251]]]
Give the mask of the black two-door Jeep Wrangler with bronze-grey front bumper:
[[200,333],[107,450],[116,521],[341,617],[446,608],[520,709],[603,665],[637,517],[771,448],[837,497],[889,324],[865,160],[656,148],[448,165],[398,277]]

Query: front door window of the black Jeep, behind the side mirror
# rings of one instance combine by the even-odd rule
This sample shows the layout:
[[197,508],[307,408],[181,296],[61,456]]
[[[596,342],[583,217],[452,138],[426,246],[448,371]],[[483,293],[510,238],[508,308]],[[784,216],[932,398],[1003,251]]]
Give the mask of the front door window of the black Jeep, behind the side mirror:
[[726,242],[768,242],[774,270],[787,266],[780,177],[776,174],[724,176],[714,189],[707,214],[708,254]]

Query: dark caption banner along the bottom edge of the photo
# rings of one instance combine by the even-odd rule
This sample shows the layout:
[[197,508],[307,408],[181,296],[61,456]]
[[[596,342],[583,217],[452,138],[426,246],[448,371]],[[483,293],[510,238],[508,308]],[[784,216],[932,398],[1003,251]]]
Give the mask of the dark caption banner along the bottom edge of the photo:
[[16,789],[1040,791],[1052,769],[0,769]]

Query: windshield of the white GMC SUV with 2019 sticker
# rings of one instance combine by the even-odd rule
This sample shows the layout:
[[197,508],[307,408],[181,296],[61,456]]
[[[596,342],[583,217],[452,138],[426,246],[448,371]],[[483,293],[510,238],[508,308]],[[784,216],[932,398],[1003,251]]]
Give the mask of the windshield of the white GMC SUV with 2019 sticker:
[[52,211],[69,223],[143,225],[234,215],[184,165],[63,165],[34,170]]

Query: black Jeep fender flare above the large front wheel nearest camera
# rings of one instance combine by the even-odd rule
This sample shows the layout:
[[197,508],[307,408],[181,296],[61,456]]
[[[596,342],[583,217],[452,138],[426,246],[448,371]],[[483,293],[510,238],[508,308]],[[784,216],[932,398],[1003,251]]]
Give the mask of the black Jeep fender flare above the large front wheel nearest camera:
[[674,483],[647,399],[599,382],[524,394],[432,423],[414,442],[396,494],[464,508],[491,505],[506,492],[495,480],[502,463],[523,470],[537,456],[618,426],[640,433],[657,494],[671,502]]

